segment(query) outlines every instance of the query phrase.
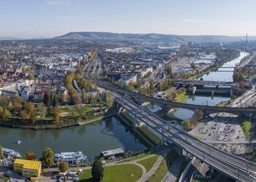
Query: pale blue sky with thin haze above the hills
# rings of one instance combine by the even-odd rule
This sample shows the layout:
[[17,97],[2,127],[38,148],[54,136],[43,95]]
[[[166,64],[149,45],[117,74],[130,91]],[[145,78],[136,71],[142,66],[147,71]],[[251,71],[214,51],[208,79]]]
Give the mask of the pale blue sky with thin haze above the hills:
[[0,36],[256,35],[255,0],[0,0]]

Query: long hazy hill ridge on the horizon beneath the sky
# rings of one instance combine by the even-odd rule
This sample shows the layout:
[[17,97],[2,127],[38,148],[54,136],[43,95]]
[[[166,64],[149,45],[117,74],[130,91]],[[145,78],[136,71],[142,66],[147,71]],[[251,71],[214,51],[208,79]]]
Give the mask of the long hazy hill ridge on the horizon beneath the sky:
[[169,41],[169,42],[219,42],[219,41],[241,41],[241,36],[179,36],[160,33],[109,33],[109,32],[70,32],[63,36],[55,37],[59,40],[76,41]]

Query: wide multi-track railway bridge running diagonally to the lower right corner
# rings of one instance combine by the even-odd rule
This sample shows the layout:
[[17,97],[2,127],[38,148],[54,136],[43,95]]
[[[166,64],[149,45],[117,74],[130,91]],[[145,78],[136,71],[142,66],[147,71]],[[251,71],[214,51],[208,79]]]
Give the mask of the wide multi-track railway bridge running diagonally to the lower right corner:
[[137,111],[135,118],[162,135],[162,141],[168,140],[175,143],[187,154],[191,154],[237,181],[256,181],[256,165],[254,163],[203,143],[203,141],[188,135],[187,132],[178,129],[175,124],[170,124],[138,106],[132,100],[119,95],[117,92],[111,93],[116,102],[129,113],[132,114]]

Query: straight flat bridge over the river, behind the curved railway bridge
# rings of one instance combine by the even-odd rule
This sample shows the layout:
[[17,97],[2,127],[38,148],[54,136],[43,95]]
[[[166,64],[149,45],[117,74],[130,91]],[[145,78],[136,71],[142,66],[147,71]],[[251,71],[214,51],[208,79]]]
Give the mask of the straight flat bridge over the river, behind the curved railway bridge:
[[233,82],[217,82],[217,81],[204,81],[204,80],[196,80],[196,79],[172,79],[171,82],[173,84],[181,84],[181,85],[189,85],[189,86],[226,86],[230,87]]

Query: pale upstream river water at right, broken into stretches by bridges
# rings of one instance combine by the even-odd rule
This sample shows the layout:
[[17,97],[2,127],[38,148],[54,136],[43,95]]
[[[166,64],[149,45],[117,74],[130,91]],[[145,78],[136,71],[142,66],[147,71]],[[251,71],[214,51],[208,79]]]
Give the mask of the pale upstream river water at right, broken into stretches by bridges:
[[[238,58],[230,60],[229,62],[225,63],[222,67],[235,67],[236,64],[240,63],[240,61],[244,57],[246,57],[247,54],[248,54],[247,52],[241,52]],[[211,71],[210,74],[203,75],[201,78],[207,81],[233,82],[233,68],[222,68],[222,67],[220,67],[217,71]],[[227,72],[223,72],[223,71],[227,71]],[[214,98],[211,98],[209,96],[195,95],[195,96],[190,96],[185,103],[214,106],[217,103],[220,103],[221,101],[225,101],[225,100],[230,100],[230,97],[214,96]],[[174,112],[174,116],[182,120],[191,118],[193,114],[194,114],[193,111],[190,111],[185,108],[179,108],[177,111]]]

